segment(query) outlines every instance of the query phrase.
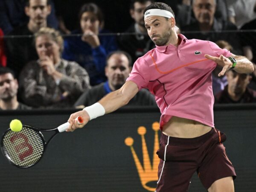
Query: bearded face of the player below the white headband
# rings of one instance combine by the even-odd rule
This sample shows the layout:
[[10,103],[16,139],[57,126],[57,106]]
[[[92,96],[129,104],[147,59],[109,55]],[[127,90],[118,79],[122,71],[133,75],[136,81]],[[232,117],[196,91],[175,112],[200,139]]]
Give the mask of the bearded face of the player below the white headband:
[[175,20],[170,18],[166,20],[161,16],[145,17],[145,27],[151,40],[157,46],[166,45],[172,35],[172,26],[175,26]]

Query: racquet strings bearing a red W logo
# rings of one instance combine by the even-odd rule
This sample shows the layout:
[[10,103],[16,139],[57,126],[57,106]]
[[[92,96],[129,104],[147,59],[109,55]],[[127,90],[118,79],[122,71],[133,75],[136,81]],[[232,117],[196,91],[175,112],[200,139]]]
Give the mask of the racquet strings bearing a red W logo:
[[38,132],[24,126],[19,132],[9,130],[3,138],[3,152],[15,165],[29,167],[40,160],[44,140]]

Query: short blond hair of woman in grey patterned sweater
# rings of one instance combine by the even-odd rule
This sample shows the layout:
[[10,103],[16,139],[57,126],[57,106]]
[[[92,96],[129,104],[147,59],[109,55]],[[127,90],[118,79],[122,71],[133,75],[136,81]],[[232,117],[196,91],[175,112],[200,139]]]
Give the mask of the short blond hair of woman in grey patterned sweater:
[[63,38],[61,37],[60,32],[58,32],[57,30],[55,30],[53,28],[42,27],[41,29],[39,29],[38,32],[35,33],[35,40],[36,40],[36,38],[38,38],[41,35],[49,35],[50,38],[52,38],[52,40],[55,41],[60,46],[60,52],[63,51],[63,49],[64,49]]

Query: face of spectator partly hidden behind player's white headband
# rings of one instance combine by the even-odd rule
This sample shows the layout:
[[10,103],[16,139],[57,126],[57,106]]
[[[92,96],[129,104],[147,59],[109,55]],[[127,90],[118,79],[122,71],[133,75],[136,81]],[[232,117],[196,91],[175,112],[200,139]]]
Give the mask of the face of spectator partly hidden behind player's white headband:
[[134,9],[130,9],[131,17],[135,20],[135,23],[138,23],[140,26],[144,27],[144,9],[151,5],[150,1],[147,1],[145,4],[136,2],[134,3]]

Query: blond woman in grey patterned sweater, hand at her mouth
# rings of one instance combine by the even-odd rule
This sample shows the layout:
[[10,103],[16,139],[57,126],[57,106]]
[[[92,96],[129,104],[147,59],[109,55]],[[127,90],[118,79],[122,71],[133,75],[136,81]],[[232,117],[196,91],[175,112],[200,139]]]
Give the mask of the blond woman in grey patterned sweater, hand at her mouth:
[[51,28],[41,28],[35,34],[39,59],[29,62],[20,73],[23,101],[33,107],[73,106],[90,87],[89,76],[79,64],[61,58],[63,39]]

